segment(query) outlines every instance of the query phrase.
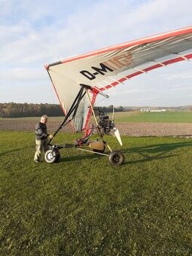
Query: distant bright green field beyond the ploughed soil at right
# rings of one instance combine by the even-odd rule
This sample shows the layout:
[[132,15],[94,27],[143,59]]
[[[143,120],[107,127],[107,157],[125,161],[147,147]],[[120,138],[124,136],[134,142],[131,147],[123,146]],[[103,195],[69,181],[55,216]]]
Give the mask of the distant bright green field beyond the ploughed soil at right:
[[147,122],[147,123],[191,123],[192,112],[123,112],[115,114],[118,122]]

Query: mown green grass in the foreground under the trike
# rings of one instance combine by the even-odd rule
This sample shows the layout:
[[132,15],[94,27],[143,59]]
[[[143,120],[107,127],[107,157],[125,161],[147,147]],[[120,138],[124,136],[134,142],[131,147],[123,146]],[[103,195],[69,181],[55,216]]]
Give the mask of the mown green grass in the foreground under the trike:
[[0,255],[191,255],[191,139],[123,143],[118,168],[75,148],[36,164],[33,133],[0,132]]

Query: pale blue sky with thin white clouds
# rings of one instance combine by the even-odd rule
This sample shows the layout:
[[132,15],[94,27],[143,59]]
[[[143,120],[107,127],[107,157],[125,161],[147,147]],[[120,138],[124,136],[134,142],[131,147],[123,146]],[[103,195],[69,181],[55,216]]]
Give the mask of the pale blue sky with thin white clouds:
[[[0,0],[0,102],[59,104],[44,65],[192,25],[191,0]],[[192,105],[192,62],[139,75],[98,105]]]

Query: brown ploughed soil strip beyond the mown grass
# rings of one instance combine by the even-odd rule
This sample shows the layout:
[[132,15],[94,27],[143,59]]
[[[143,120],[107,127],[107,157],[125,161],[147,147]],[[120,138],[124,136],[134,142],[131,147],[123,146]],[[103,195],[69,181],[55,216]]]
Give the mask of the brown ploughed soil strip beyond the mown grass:
[[[5,131],[34,131],[37,120],[2,119],[0,130]],[[60,120],[50,120],[47,128],[54,132],[60,125]],[[117,123],[120,134],[127,136],[192,136],[192,123]],[[69,132],[71,126],[62,129]]]

